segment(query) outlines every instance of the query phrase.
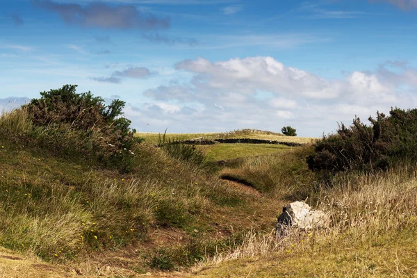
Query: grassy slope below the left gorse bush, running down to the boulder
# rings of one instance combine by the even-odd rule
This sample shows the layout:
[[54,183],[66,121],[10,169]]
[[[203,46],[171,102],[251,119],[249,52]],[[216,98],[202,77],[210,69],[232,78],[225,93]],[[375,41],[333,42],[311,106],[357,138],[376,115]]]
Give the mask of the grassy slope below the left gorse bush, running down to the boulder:
[[[1,243],[55,263],[74,266],[89,257],[92,265],[149,271],[158,250],[181,257],[197,245],[204,253],[232,230],[272,227],[282,205],[268,198],[254,202],[147,145],[137,153],[142,169],[120,174],[0,141]],[[87,237],[90,243],[83,244]]]

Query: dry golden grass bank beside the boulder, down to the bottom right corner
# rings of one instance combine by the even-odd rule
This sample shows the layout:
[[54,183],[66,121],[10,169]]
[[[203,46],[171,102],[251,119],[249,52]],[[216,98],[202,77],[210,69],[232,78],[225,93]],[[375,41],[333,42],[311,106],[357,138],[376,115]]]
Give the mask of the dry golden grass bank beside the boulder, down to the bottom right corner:
[[279,240],[273,232],[252,231],[243,245],[209,259],[200,265],[209,270],[197,273],[204,277],[241,277],[250,272],[248,277],[416,275],[416,175],[416,170],[341,175],[316,199],[316,207],[332,218],[329,229],[292,231]]

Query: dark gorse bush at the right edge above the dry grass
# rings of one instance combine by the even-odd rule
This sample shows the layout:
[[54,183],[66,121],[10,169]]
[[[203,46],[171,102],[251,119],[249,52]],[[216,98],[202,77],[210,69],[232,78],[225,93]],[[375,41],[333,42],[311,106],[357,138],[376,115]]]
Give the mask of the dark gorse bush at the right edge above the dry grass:
[[391,108],[370,125],[359,117],[320,140],[307,163],[313,170],[386,170],[398,161],[417,161],[417,109]]

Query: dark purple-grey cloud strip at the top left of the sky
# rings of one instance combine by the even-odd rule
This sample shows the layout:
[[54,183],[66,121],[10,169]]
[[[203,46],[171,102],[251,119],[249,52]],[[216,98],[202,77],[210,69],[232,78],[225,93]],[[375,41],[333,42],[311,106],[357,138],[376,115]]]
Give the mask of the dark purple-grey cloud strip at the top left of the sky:
[[140,30],[170,27],[170,18],[145,16],[134,6],[111,6],[100,2],[81,6],[76,3],[58,3],[51,0],[32,0],[32,3],[36,7],[58,13],[70,25]]

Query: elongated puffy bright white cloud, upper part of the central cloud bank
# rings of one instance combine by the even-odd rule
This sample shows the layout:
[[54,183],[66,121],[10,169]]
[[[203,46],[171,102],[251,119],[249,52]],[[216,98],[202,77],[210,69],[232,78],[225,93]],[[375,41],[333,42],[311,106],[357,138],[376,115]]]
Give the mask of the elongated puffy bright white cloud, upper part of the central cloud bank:
[[253,95],[256,90],[265,90],[323,99],[338,95],[338,92],[326,90],[332,84],[325,79],[294,67],[286,67],[272,57],[235,58],[215,63],[200,57],[197,60],[184,60],[176,68],[197,74],[192,81],[194,85],[238,90],[240,94]]

